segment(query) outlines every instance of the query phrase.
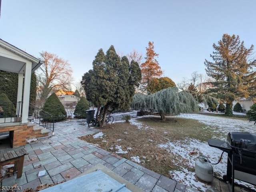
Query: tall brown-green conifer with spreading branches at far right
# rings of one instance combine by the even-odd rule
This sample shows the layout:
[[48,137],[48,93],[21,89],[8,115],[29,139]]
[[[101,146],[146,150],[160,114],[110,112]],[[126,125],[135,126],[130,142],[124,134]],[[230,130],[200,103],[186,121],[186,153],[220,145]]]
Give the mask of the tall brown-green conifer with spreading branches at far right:
[[254,94],[256,60],[249,59],[254,46],[249,49],[240,41],[239,36],[224,34],[218,45],[213,44],[210,55],[213,62],[204,61],[206,73],[215,79],[211,82],[214,88],[208,92],[217,93],[217,97],[226,102],[226,116],[232,116],[232,102],[236,98],[247,98]]

